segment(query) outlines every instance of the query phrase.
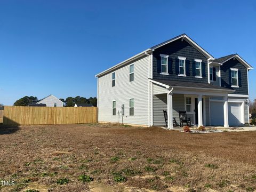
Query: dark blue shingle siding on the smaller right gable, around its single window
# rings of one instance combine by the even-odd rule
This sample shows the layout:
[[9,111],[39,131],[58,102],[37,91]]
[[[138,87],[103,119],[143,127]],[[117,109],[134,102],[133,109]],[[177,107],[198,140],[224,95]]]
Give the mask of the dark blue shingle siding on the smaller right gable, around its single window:
[[[238,85],[239,87],[231,87],[231,71],[230,68],[238,69]],[[248,94],[247,68],[238,60],[230,59],[220,66],[221,86],[235,90],[233,94]]]

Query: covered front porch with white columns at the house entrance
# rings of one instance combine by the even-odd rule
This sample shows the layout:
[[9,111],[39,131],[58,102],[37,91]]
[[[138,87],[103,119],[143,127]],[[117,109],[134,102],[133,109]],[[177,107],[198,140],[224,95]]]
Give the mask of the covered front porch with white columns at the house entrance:
[[[200,83],[199,83],[200,84]],[[213,85],[212,85],[213,86]],[[215,88],[215,87],[214,87]],[[211,125],[216,118],[223,118],[220,126],[229,127],[227,89],[169,86],[153,83],[153,125],[165,126],[163,110],[167,110],[168,129],[173,129],[173,119],[180,125],[179,111],[186,111],[193,126]],[[211,100],[219,102],[221,111],[211,113]]]

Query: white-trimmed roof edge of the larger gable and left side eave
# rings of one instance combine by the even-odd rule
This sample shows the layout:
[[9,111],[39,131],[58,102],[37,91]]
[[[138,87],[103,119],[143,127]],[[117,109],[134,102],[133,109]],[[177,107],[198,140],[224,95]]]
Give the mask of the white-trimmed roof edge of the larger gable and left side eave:
[[105,71],[102,71],[101,73],[95,75],[95,77],[99,77],[101,75],[109,73],[109,71],[113,71],[113,70],[115,70],[115,69],[117,69],[117,68],[119,68],[121,66],[124,66],[127,63],[129,63],[129,62],[131,62],[133,60],[136,60],[136,59],[138,59],[140,57],[143,57],[143,56],[147,55],[148,53],[153,52],[155,49],[157,49],[157,48],[159,48],[161,46],[164,46],[164,45],[166,45],[168,43],[171,43],[173,41],[176,41],[178,39],[181,39],[181,41],[183,41],[185,39],[190,45],[192,45],[193,47],[195,47],[195,49],[197,49],[199,52],[201,52],[203,55],[205,55],[206,58],[214,59],[214,57],[212,57],[212,55],[210,53],[206,52],[201,46],[199,46],[196,42],[194,42],[189,36],[187,36],[186,34],[181,34],[181,35],[179,35],[177,37],[174,37],[174,38],[171,38],[171,39],[169,39],[169,40],[167,40],[167,41],[165,41],[163,43],[155,45],[155,46],[153,46],[153,47],[151,47],[151,48],[149,48],[149,49],[147,49],[145,51],[142,51],[139,54],[134,55],[133,57],[131,57],[129,59],[126,59],[126,60],[118,63],[117,65],[115,65],[113,67],[110,67],[109,69],[107,69]]

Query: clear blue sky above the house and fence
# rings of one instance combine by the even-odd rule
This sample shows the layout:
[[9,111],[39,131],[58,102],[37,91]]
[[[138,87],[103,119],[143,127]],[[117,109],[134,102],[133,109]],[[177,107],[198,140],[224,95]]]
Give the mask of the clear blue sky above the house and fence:
[[255,1],[0,0],[0,103],[96,97],[95,74],[183,33],[250,63],[256,98]]

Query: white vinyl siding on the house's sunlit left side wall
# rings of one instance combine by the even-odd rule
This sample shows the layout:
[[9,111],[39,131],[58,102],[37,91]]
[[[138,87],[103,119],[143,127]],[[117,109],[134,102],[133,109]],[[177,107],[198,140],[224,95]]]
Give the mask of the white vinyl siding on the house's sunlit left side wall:
[[[135,81],[130,83],[130,66],[134,65]],[[148,125],[148,57],[141,58],[117,69],[118,84],[112,87],[111,72],[99,77],[99,122],[122,123],[121,106],[124,104],[124,124]],[[134,98],[134,116],[129,115],[129,99]],[[116,101],[116,115],[112,115],[112,102]]]

